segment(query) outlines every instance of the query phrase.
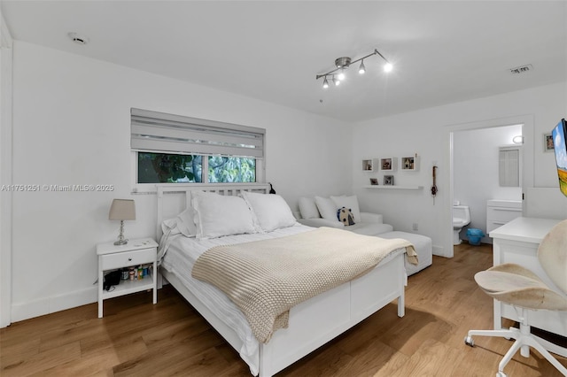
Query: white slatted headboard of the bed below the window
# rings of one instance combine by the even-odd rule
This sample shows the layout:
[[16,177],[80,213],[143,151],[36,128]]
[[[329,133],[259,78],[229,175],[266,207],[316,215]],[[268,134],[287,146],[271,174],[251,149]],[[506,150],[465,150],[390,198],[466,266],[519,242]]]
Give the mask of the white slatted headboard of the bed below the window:
[[164,183],[156,185],[158,190],[158,212],[156,239],[161,238],[161,223],[174,218],[191,204],[191,191],[214,192],[220,195],[237,196],[241,191],[268,194],[269,183]]

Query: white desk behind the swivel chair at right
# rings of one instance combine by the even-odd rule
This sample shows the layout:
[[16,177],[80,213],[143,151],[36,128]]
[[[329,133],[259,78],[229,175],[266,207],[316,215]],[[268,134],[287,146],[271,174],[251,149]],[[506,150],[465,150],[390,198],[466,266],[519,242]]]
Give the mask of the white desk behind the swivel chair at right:
[[[537,257],[541,240],[560,221],[558,219],[517,218],[494,229],[489,234],[493,238],[493,265],[502,263],[523,265],[540,276],[549,288],[561,292],[549,280]],[[517,321],[516,310],[508,304],[494,300],[494,329],[502,328],[502,318]],[[567,336],[567,312],[530,311],[528,318],[532,327]],[[566,356],[563,351],[552,351]]]

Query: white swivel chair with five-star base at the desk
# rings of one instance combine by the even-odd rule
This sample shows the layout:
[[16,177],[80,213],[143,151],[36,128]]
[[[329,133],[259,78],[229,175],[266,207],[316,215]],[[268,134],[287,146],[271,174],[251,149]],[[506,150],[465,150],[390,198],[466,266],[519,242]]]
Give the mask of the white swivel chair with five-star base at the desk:
[[543,345],[541,339],[530,333],[528,311],[567,311],[567,220],[563,220],[546,235],[538,248],[538,259],[543,270],[548,274],[559,293],[550,289],[546,283],[530,270],[521,265],[507,263],[494,265],[486,271],[475,274],[475,281],[488,296],[516,308],[520,328],[510,327],[508,330],[470,330],[464,342],[474,346],[472,335],[500,336],[516,340],[498,365],[497,377],[506,377],[504,367],[520,350],[524,358],[530,356],[529,347],[540,354],[567,376],[567,368],[554,358]]

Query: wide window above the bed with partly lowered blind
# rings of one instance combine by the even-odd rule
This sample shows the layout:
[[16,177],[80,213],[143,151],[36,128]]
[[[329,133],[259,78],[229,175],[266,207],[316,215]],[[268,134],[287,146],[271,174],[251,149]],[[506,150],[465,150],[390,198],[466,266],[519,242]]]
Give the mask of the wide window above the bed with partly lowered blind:
[[132,109],[135,183],[262,181],[265,132],[263,128]]

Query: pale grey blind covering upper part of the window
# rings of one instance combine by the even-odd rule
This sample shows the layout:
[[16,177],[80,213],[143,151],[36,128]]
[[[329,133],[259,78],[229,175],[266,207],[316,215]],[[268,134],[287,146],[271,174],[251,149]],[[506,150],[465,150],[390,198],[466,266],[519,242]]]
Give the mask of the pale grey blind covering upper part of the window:
[[263,158],[266,130],[132,108],[130,134],[136,151]]

